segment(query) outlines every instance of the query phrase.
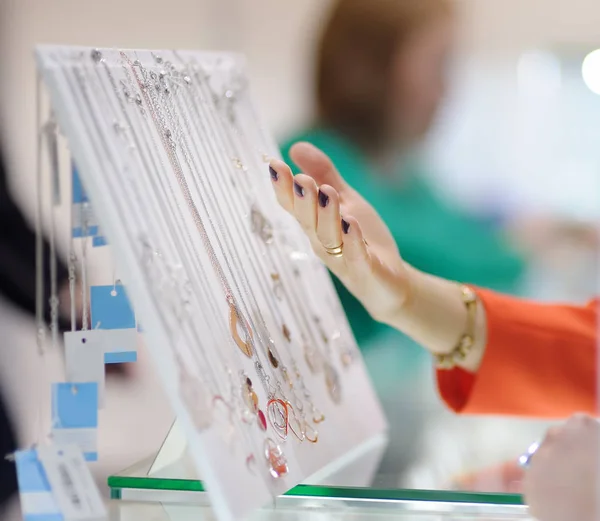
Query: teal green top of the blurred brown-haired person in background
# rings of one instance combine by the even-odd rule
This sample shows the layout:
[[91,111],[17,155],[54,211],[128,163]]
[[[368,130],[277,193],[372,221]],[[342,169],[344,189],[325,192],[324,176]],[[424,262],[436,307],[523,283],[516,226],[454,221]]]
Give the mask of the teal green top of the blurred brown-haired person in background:
[[[416,163],[402,169],[402,176],[397,176],[401,183],[394,182],[373,174],[373,167],[351,143],[331,131],[316,129],[282,145],[284,160],[294,173],[298,168],[290,160],[289,148],[298,141],[314,144],[332,159],[348,184],[379,212],[409,264],[451,280],[506,293],[519,290],[523,259],[488,224],[438,198],[419,175]],[[334,282],[360,346],[386,330],[390,333],[390,328],[375,322],[339,281]]]

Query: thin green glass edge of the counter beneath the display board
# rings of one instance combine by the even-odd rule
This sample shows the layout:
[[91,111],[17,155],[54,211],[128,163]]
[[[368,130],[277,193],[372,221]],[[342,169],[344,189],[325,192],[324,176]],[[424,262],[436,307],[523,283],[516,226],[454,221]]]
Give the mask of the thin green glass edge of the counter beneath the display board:
[[[137,488],[145,490],[205,492],[201,481],[189,479],[110,476],[108,478],[108,486],[111,488],[111,491],[114,489]],[[375,489],[298,485],[286,492],[285,495],[330,497],[336,499],[384,499],[395,501],[436,501],[444,503],[523,505],[523,498],[518,494],[456,492],[450,490]]]

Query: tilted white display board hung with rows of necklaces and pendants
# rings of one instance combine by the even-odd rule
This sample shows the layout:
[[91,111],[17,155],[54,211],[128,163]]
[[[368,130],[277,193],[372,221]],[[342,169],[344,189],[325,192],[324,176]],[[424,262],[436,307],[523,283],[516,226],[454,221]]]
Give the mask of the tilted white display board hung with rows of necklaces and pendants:
[[218,518],[372,445],[385,418],[277,205],[243,59],[44,46],[37,61]]

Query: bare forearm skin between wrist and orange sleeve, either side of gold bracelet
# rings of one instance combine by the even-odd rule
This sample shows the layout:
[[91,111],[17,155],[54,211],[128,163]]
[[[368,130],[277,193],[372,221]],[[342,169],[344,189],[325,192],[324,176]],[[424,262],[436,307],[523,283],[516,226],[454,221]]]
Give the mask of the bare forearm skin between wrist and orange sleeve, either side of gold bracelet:
[[[449,353],[467,327],[467,308],[460,286],[414,268],[409,270],[409,297],[387,322],[432,353]],[[475,343],[459,365],[476,372],[481,365],[487,341],[485,309],[480,304],[477,305],[473,337]]]

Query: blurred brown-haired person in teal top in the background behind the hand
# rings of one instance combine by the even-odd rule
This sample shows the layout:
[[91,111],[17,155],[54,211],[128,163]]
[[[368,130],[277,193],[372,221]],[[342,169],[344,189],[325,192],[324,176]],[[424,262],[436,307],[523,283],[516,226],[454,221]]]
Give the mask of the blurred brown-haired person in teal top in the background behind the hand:
[[[446,92],[455,25],[451,0],[336,1],[318,46],[316,121],[282,145],[283,157],[293,165],[289,148],[296,141],[322,149],[373,204],[413,266],[517,292],[521,255],[502,233],[440,197],[419,157]],[[429,371],[427,358],[334,282],[390,421],[392,444],[380,473],[401,474],[418,452],[421,420],[435,400],[413,399],[420,373]]]

